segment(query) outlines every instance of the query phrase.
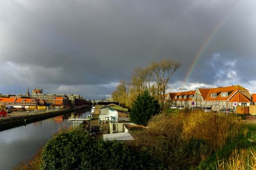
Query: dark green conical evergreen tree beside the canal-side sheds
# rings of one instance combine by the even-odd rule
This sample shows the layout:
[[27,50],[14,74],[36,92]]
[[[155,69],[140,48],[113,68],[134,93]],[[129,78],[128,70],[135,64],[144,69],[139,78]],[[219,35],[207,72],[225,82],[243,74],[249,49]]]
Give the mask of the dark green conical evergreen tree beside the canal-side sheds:
[[159,102],[154,97],[150,96],[148,90],[145,90],[143,94],[138,95],[137,99],[132,104],[129,117],[131,122],[146,126],[150,118],[159,113]]

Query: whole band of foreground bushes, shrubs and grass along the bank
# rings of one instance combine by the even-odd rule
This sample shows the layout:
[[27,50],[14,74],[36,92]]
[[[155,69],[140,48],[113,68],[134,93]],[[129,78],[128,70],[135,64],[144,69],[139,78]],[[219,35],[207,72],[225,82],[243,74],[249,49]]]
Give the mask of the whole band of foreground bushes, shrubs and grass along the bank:
[[[135,140],[91,140],[66,129],[23,169],[255,169],[256,125],[231,115],[163,109]],[[32,163],[31,163],[32,162]],[[23,163],[25,165],[25,163]]]

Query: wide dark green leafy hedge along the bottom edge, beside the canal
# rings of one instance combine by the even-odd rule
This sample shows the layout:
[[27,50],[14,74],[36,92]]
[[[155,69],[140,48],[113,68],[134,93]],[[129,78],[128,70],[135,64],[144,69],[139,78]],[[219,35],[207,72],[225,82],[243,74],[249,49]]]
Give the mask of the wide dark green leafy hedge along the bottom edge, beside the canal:
[[128,146],[90,140],[79,128],[56,135],[42,151],[42,169],[134,169],[134,162]]

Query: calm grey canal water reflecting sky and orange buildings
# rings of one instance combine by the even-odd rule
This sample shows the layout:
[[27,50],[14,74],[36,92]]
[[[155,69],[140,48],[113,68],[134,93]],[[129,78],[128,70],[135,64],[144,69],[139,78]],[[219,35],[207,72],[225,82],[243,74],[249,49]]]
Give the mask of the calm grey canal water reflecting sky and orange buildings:
[[59,128],[68,127],[70,118],[86,118],[91,110],[78,110],[47,120],[0,132],[0,169],[13,169],[28,160],[50,140]]

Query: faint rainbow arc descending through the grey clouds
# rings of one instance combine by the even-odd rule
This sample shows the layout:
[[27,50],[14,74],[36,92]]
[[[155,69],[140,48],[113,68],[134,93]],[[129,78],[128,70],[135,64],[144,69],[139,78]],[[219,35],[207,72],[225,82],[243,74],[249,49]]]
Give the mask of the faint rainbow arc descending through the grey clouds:
[[213,37],[215,36],[216,32],[219,31],[220,27],[224,24],[224,22],[227,21],[228,18],[230,18],[230,15],[239,7],[239,5],[242,4],[244,0],[238,0],[236,5],[234,5],[233,8],[231,8],[230,10],[228,10],[227,15],[225,16],[225,18],[223,18],[219,24],[217,24],[217,26],[214,28],[213,32],[210,33],[210,35],[205,39],[203,45],[199,48],[197,54],[195,55],[195,58],[192,62],[192,64],[189,67],[189,70],[186,74],[186,77],[183,81],[183,84],[187,84],[189,77],[192,75],[195,65],[197,65],[198,60],[200,59],[201,55],[203,54],[204,50],[206,49],[206,47],[208,47],[209,43],[211,42],[211,39],[213,39]]

